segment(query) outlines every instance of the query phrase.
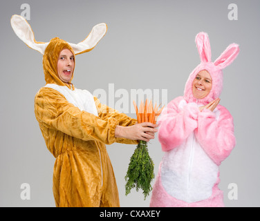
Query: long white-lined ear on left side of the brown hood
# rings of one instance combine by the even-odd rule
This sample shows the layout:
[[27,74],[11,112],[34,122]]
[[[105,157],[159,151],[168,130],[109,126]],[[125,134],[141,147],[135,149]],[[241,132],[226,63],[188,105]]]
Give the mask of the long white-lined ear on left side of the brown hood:
[[49,43],[35,41],[32,28],[24,17],[21,15],[12,15],[11,26],[21,41],[24,41],[29,48],[37,50],[41,55],[44,55],[44,50]]

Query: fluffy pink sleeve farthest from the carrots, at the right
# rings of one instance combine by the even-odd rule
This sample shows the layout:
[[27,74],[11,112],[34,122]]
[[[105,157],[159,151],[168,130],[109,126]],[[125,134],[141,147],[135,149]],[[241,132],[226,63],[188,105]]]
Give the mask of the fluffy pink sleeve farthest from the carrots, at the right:
[[208,109],[198,114],[197,139],[211,159],[220,165],[236,144],[233,117],[229,111],[219,105],[219,118]]

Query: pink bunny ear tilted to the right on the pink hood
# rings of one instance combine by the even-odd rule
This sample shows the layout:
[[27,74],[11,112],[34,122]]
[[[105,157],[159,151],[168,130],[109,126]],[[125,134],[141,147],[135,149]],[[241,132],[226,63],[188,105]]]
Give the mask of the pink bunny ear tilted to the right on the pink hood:
[[215,66],[219,66],[221,69],[229,66],[236,56],[239,55],[239,45],[230,44],[228,48],[224,50],[224,52],[219,56],[216,61],[214,61]]

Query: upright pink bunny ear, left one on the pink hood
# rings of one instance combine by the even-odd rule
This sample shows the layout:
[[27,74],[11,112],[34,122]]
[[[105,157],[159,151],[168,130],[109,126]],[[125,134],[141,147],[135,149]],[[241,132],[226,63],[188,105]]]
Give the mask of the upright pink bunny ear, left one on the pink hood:
[[196,45],[198,48],[198,54],[201,57],[201,62],[211,61],[211,48],[210,39],[205,32],[200,32],[196,35]]

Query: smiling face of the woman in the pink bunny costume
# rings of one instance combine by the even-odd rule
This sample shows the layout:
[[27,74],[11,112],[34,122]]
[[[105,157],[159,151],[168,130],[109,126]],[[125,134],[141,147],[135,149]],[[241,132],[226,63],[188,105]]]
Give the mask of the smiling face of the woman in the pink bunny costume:
[[207,70],[201,70],[192,82],[192,93],[196,99],[206,97],[212,88],[212,78]]

